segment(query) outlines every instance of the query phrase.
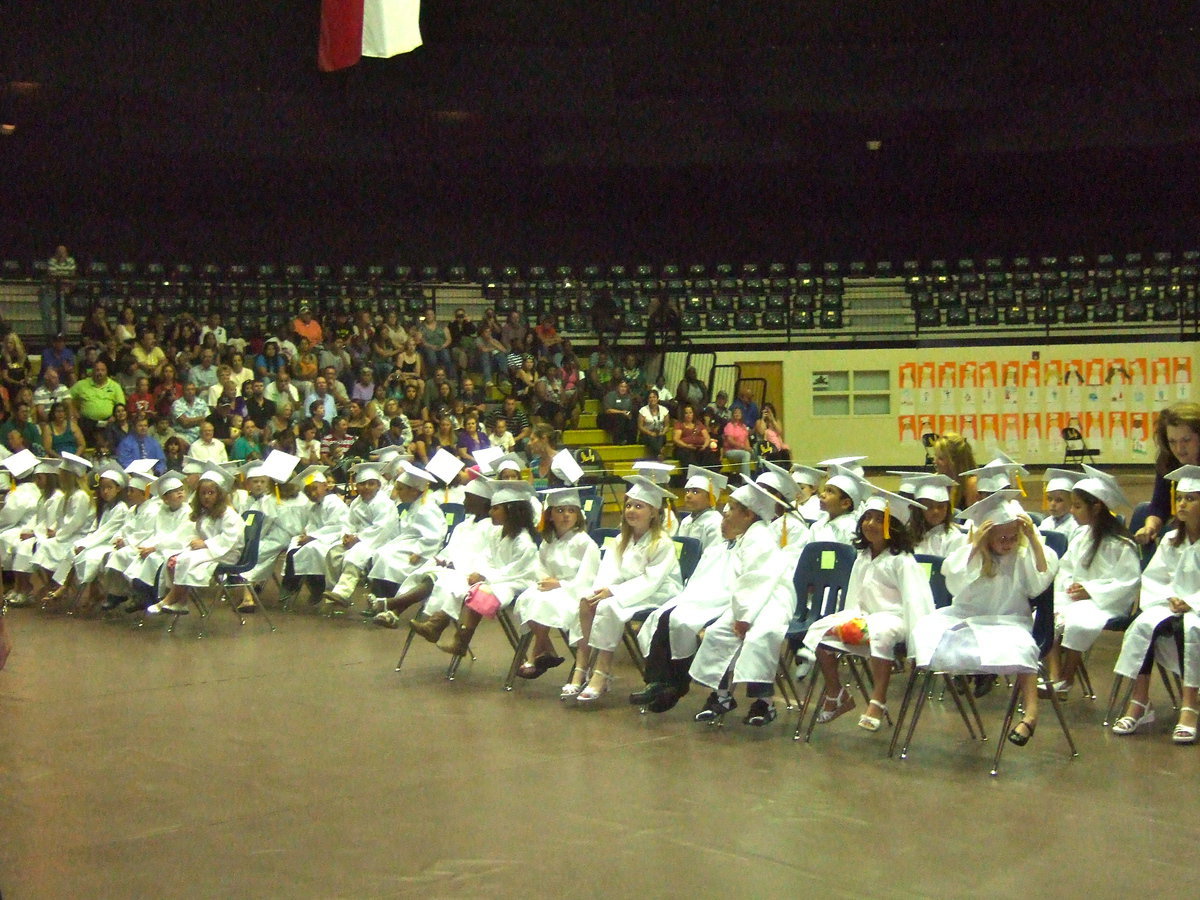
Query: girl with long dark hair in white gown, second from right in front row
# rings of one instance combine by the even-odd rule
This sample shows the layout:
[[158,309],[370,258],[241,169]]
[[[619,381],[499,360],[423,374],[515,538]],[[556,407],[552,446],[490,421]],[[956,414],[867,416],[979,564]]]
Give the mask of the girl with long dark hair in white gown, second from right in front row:
[[1126,616],[1138,600],[1141,558],[1112,506],[1129,505],[1116,479],[1085,467],[1087,476],[1072,490],[1072,515],[1079,523],[1058,562],[1054,611],[1057,640],[1051,652],[1052,689],[1070,690],[1084,654],[1109,619]]

